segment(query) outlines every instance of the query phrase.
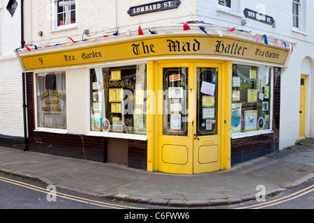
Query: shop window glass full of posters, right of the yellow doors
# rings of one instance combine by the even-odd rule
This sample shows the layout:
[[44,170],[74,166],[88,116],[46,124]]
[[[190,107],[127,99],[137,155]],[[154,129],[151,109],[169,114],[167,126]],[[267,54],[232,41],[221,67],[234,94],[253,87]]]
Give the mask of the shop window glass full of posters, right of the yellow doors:
[[234,65],[232,69],[232,134],[269,130],[271,69]]

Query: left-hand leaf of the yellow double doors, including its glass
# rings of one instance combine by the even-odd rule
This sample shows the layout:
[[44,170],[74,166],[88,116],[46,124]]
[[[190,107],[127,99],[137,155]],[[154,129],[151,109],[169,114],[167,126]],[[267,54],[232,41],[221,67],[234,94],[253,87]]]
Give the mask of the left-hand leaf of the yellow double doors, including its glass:
[[189,103],[193,64],[169,63],[158,69],[158,91],[163,91],[158,94],[158,106],[162,106],[162,114],[158,114],[158,170],[193,174],[193,126],[189,121],[193,114]]

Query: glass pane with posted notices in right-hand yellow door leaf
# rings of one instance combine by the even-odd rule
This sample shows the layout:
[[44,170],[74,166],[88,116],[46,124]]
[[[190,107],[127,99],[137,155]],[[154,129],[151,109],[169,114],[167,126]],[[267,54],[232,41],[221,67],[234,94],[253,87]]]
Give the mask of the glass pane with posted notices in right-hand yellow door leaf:
[[218,68],[197,68],[197,136],[217,134]]

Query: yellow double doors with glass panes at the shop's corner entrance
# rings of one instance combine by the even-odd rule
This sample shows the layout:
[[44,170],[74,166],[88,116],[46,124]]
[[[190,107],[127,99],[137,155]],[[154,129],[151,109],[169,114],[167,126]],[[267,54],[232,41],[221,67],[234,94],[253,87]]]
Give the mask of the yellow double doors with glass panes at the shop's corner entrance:
[[158,66],[158,171],[199,174],[220,169],[221,66]]

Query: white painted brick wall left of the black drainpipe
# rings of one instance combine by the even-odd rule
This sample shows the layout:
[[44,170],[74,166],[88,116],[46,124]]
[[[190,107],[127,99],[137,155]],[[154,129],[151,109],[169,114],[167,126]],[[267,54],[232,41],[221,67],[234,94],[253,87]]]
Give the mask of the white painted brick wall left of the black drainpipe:
[[14,50],[20,47],[20,1],[13,17],[0,8],[0,134],[23,137],[22,70]]

